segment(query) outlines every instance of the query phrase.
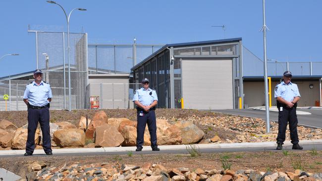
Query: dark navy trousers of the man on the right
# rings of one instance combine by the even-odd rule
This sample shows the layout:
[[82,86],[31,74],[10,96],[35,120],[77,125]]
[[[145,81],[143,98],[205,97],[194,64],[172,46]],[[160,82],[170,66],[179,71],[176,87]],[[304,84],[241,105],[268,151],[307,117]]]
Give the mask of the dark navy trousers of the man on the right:
[[297,135],[297,115],[296,115],[296,107],[286,107],[283,106],[283,110],[280,111],[278,109],[278,135],[277,135],[277,143],[282,143],[285,141],[285,132],[287,122],[289,123],[291,143],[297,144],[299,143],[299,137]]

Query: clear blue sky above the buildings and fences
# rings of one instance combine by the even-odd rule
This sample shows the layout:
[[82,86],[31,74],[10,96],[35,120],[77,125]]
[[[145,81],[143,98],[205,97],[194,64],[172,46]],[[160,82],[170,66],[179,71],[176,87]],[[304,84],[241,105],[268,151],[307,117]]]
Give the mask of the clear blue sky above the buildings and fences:
[[[88,43],[170,44],[239,38],[263,59],[262,0],[56,0],[70,18],[70,32],[84,27]],[[30,25],[55,25],[67,32],[59,6],[46,0],[0,1],[0,77],[36,68]],[[322,61],[322,0],[266,0],[268,59]],[[220,27],[225,25],[223,32]]]

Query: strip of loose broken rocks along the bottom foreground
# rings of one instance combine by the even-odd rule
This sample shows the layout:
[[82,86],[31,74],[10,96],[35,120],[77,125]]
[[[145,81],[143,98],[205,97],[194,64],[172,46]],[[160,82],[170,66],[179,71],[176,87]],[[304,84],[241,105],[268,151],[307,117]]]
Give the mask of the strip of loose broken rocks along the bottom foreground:
[[[108,163],[47,168],[34,162],[29,165],[28,180],[36,181],[322,181],[322,173],[259,172],[255,170],[189,170],[180,167],[167,169],[162,165],[145,164],[142,167]],[[21,179],[20,181],[26,181]]]

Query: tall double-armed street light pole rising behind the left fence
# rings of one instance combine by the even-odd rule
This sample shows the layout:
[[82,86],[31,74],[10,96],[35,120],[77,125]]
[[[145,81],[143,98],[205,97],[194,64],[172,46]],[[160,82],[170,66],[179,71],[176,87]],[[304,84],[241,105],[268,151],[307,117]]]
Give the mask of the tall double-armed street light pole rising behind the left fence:
[[[68,111],[71,111],[71,86],[70,86],[70,60],[69,60],[69,51],[70,51],[70,47],[69,47],[69,18],[70,18],[70,15],[71,13],[74,11],[74,10],[80,10],[80,11],[86,11],[87,9],[84,9],[84,8],[74,8],[70,11],[69,15],[67,16],[66,14],[66,11],[65,9],[60,5],[58,4],[57,2],[53,1],[53,0],[47,0],[47,2],[49,3],[52,3],[52,4],[57,4],[59,5],[59,7],[64,11],[64,14],[66,16],[66,21],[67,21],[67,53],[68,53],[68,99],[69,99],[69,108],[68,108]],[[64,74],[65,74],[65,69],[64,69]],[[64,80],[65,81],[65,80]]]

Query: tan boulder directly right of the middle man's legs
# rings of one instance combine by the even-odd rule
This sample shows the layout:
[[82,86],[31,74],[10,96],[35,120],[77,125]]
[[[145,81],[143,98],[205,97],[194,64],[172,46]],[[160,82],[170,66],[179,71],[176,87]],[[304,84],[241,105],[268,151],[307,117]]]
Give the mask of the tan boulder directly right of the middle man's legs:
[[181,131],[164,119],[157,119],[158,145],[181,144]]

